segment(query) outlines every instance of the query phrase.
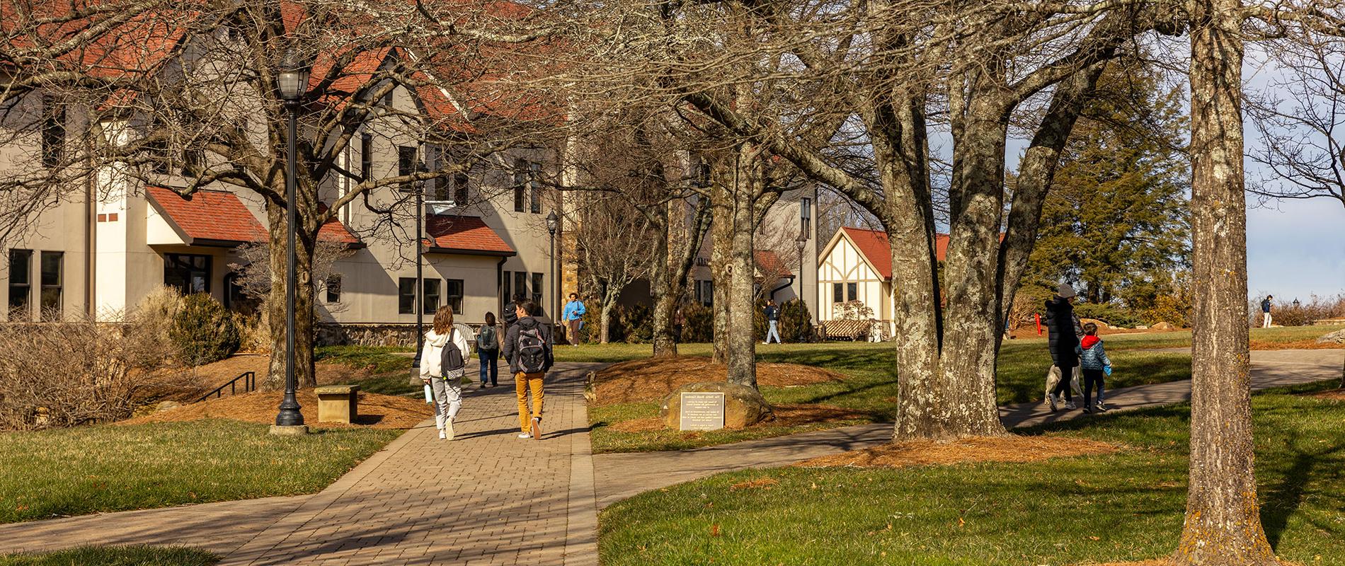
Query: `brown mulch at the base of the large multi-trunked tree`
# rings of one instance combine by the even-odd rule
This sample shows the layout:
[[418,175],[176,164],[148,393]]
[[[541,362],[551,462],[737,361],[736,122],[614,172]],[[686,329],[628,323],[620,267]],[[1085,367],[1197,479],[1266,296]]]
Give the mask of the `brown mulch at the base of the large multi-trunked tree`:
[[1046,458],[1108,454],[1120,446],[1064,437],[971,437],[951,442],[912,441],[822,456],[795,464],[802,468],[902,468],[960,462],[1032,462]]

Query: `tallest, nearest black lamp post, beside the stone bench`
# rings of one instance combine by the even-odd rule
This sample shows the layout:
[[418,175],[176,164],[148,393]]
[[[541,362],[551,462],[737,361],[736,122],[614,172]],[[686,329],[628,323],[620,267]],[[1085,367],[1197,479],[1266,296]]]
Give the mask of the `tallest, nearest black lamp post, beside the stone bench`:
[[276,414],[276,426],[291,428],[281,430],[296,430],[304,426],[304,415],[299,411],[299,399],[295,398],[295,288],[297,286],[296,273],[296,246],[295,246],[295,192],[299,177],[299,156],[295,138],[299,137],[299,105],[300,98],[308,90],[307,65],[299,60],[293,48],[285,51],[285,59],[280,63],[280,74],[276,77],[276,86],[280,97],[285,101],[286,120],[289,122],[289,136],[286,137],[285,155],[285,222],[286,237],[289,239],[289,262],[286,266],[285,282],[285,398],[280,402],[280,413]]

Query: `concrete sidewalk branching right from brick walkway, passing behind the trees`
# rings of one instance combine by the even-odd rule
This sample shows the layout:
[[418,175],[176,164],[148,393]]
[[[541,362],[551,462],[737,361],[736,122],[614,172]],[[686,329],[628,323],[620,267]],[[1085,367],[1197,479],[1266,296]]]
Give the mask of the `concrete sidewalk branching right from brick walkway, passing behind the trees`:
[[[1345,350],[1279,350],[1252,352],[1252,389],[1340,379]],[[1045,386],[1045,372],[1042,372]],[[1190,399],[1190,380],[1123,387],[1107,391],[1107,405],[1135,410]],[[1045,402],[1005,405],[999,418],[1005,426],[1032,426],[1087,417],[1073,410],[1050,413]],[[847,450],[877,446],[892,440],[892,423],[846,426],[787,437],[736,442],[724,446],[679,452],[597,454],[599,507],[636,493],[691,481],[720,472],[772,468]]]

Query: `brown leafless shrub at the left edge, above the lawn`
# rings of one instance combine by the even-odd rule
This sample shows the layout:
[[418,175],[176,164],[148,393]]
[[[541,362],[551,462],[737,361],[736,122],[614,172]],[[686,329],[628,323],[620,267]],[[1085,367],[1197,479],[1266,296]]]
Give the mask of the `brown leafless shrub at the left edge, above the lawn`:
[[[140,327],[147,328],[147,327]],[[0,429],[35,430],[129,417],[144,391],[172,385],[161,341],[134,325],[0,325]]]

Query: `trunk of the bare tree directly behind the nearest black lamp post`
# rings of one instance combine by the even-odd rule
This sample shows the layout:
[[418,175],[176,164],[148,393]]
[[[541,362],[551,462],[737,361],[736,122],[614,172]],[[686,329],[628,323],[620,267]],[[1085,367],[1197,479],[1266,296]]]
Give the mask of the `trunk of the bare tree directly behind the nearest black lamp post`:
[[[295,259],[295,273],[297,274],[295,286],[295,383],[299,387],[316,387],[317,376],[313,371],[313,238],[305,237],[303,230],[303,207],[296,214],[300,215],[299,234],[295,235],[297,246]],[[282,203],[266,203],[266,218],[270,225],[270,296],[266,298],[266,316],[270,321],[270,366],[268,368],[264,389],[274,390],[285,387],[285,281],[289,270],[289,241],[285,226],[285,207]]]

